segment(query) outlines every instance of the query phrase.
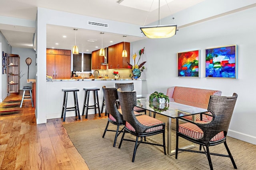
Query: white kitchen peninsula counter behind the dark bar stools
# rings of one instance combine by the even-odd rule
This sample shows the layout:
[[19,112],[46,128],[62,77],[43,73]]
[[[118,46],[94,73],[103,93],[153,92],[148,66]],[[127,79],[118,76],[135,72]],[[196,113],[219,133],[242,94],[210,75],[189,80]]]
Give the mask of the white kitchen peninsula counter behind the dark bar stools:
[[[82,78],[82,79],[53,79],[52,81],[47,80],[46,82],[46,119],[55,119],[61,117],[62,104],[64,92],[62,89],[64,88],[77,88],[79,92],[78,95],[78,106],[80,115],[82,115],[82,109],[84,104],[84,88],[99,88],[98,97],[100,103],[100,109],[103,101],[103,92],[102,86],[106,87],[115,87],[115,83],[134,83],[134,91],[136,91],[137,95],[142,95],[142,83],[146,81],[146,79],[138,79],[132,80],[130,78]],[[93,105],[93,95],[90,94],[89,105]],[[68,94],[68,104],[67,107],[74,107],[74,98],[73,94]],[[105,106],[104,106],[105,107]],[[105,109],[103,109],[105,111]],[[89,109],[88,114],[94,114],[94,109]],[[66,113],[66,117],[75,116],[74,111],[68,111]]]

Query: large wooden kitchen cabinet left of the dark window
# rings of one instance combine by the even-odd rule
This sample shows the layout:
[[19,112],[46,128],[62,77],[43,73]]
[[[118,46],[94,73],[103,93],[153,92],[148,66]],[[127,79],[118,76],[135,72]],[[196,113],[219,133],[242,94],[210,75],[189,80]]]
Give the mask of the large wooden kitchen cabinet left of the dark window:
[[[58,53],[69,55],[46,54],[46,74],[53,79],[70,78],[71,76],[71,51],[58,50]],[[66,51],[66,53],[63,53]]]

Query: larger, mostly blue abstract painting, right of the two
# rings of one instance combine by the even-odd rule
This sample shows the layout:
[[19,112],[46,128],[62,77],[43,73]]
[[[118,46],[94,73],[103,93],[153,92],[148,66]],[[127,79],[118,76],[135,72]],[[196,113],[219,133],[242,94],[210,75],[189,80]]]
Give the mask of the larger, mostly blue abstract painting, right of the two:
[[236,78],[237,45],[206,49],[207,78]]

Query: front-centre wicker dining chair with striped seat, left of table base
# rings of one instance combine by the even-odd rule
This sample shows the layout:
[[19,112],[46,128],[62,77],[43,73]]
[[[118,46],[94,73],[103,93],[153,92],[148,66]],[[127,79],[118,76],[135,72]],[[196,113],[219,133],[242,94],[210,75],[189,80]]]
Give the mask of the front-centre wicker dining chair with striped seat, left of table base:
[[[123,119],[125,121],[124,132],[118,148],[119,149],[121,148],[123,141],[135,142],[132,162],[134,162],[136,150],[138,149],[138,146],[140,145],[140,143],[163,147],[164,154],[166,154],[165,123],[163,123],[162,121],[159,121],[158,119],[150,117],[148,115],[144,115],[144,114],[139,116],[134,115],[133,108],[137,104],[135,91],[134,92],[121,91],[121,88],[118,88],[117,93],[118,93],[118,98],[119,98],[119,102],[122,109]],[[126,132],[136,136],[136,140],[134,141],[131,139],[125,139],[124,136]],[[149,143],[149,142],[143,141],[143,137],[152,136],[160,133],[162,133],[163,135],[162,145],[158,143]],[[138,140],[139,137],[140,137],[140,140]]]

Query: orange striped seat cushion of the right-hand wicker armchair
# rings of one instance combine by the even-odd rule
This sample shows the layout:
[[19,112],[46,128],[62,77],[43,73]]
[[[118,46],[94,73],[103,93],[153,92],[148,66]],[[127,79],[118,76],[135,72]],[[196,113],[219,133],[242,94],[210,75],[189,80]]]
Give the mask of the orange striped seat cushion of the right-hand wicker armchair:
[[[196,121],[197,123],[205,123],[204,121]],[[204,133],[197,125],[193,123],[184,123],[179,125],[179,132],[192,137],[194,139],[200,139],[203,137]],[[215,135],[210,141],[218,141],[224,138],[224,132],[220,132]]]

